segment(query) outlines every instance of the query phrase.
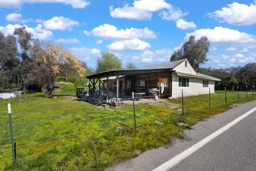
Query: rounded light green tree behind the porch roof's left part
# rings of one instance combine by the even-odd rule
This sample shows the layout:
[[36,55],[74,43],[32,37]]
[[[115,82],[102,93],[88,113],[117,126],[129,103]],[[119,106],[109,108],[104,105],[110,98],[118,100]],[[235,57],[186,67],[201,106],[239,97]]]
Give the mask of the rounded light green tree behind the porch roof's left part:
[[122,70],[122,64],[114,53],[102,52],[101,56],[102,58],[97,60],[96,73]]

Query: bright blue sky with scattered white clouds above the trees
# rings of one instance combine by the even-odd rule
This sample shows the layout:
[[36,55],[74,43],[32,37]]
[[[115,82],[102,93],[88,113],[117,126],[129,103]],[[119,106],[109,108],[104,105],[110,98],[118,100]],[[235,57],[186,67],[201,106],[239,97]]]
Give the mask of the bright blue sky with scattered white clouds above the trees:
[[256,0],[1,0],[0,31],[26,26],[33,38],[63,45],[89,67],[113,52],[123,68],[170,62],[190,35],[210,40],[208,62],[256,62]]

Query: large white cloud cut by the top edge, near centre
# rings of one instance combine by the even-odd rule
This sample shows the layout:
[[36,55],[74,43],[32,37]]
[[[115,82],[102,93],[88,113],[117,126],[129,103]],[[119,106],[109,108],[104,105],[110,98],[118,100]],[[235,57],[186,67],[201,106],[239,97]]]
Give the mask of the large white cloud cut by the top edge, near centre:
[[161,9],[171,9],[171,4],[165,0],[135,0],[133,6],[125,4],[122,8],[113,8],[110,6],[110,16],[114,18],[127,18],[135,20],[150,20],[152,12]]

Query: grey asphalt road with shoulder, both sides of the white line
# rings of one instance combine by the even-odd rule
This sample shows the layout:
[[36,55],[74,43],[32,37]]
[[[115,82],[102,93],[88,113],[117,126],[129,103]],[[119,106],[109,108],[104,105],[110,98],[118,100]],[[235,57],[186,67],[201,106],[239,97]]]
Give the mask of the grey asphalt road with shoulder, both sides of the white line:
[[[179,155],[250,109],[256,101],[240,104],[224,113],[198,122],[184,131],[183,140],[173,139],[169,145],[146,151],[135,159],[115,165],[107,171],[150,171]],[[245,170],[256,171],[256,112],[220,134],[170,171]]]

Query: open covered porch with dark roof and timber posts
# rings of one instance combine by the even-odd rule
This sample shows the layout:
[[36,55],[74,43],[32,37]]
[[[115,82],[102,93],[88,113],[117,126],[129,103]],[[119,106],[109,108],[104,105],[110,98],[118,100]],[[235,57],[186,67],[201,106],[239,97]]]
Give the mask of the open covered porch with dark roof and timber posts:
[[[131,98],[132,92],[137,93],[137,97],[149,95],[149,90],[155,88],[158,82],[158,79],[152,79],[151,83],[150,75],[161,73],[169,73],[170,75],[171,72],[172,70],[170,69],[115,70],[86,76],[86,78],[88,78],[89,87],[88,98],[92,101],[102,101],[114,106],[123,105],[121,97]],[[146,84],[144,86],[136,87],[132,82],[134,83],[136,78],[139,77],[145,78],[144,80],[146,80]],[[132,82],[129,83],[126,80],[127,78]],[[168,97],[169,96],[170,95],[168,94]],[[140,99],[142,100],[142,98]]]

